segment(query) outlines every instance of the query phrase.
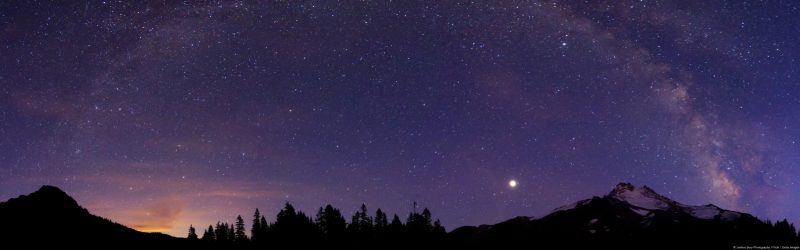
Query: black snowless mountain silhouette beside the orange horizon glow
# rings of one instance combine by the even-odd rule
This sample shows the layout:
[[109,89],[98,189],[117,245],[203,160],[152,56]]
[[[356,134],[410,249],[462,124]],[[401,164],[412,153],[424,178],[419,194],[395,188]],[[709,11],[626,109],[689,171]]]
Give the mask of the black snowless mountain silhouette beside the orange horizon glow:
[[[36,245],[125,246],[176,244],[161,233],[143,233],[95,216],[53,186],[0,203],[0,242]],[[114,243],[114,245],[106,245]]]

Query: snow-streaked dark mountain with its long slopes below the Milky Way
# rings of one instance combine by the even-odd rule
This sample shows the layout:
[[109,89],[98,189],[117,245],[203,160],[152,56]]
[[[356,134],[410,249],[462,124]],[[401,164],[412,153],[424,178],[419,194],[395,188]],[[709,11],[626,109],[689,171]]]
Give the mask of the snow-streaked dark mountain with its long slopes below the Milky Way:
[[534,219],[517,217],[495,225],[457,228],[459,244],[519,244],[630,249],[731,249],[733,246],[796,246],[794,227],[775,225],[715,205],[689,206],[651,188],[618,184],[608,195],[581,200]]

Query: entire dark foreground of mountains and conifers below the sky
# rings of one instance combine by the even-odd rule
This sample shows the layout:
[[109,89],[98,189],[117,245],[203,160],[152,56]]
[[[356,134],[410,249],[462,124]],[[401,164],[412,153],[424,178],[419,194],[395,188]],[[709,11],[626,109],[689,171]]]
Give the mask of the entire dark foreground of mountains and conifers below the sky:
[[[467,226],[446,233],[428,209],[391,218],[380,209],[371,216],[365,205],[351,217],[328,205],[313,218],[286,204],[269,223],[256,210],[233,224],[217,223],[187,238],[142,233],[94,216],[56,187],[0,203],[0,242],[27,246],[123,246],[268,249],[281,246],[350,248],[615,247],[630,249],[731,249],[733,246],[798,246],[800,239],[786,220],[771,223],[750,214],[714,205],[688,206],[648,187],[620,183],[608,195],[554,210],[539,219],[517,217],[495,225]],[[248,234],[249,233],[249,234]]]

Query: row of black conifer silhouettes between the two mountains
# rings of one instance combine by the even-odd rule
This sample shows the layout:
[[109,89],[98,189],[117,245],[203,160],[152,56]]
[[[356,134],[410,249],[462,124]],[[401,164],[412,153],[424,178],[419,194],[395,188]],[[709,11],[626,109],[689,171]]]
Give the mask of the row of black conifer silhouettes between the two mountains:
[[199,236],[193,225],[189,226],[188,239],[209,245],[234,245],[262,247],[267,245],[351,245],[369,246],[378,242],[437,244],[445,240],[447,232],[441,222],[434,220],[430,210],[411,212],[405,221],[394,214],[391,219],[380,208],[374,216],[362,204],[348,222],[341,211],[330,204],[320,207],[313,218],[298,211],[287,202],[273,223],[267,222],[255,210],[251,220],[250,236],[246,233],[244,219],[236,217],[234,224],[217,222],[204,229]]

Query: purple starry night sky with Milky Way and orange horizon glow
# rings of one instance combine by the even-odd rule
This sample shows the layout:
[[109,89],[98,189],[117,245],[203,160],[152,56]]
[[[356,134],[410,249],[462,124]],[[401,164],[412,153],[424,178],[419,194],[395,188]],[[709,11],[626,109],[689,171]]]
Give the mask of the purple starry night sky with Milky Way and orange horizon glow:
[[176,236],[416,201],[452,230],[626,181],[797,223],[798,6],[2,1],[0,200]]

